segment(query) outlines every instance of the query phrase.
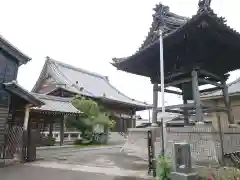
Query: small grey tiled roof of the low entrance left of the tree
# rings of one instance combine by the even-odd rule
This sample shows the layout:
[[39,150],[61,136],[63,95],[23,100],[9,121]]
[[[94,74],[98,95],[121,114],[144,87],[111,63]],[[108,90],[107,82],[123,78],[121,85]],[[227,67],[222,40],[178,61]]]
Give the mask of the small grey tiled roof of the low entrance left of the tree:
[[33,110],[50,111],[50,112],[66,113],[66,114],[81,113],[72,105],[71,103],[72,98],[62,98],[62,97],[49,96],[49,95],[37,94],[37,93],[32,93],[32,95],[45,103],[45,105],[41,107],[32,108]]

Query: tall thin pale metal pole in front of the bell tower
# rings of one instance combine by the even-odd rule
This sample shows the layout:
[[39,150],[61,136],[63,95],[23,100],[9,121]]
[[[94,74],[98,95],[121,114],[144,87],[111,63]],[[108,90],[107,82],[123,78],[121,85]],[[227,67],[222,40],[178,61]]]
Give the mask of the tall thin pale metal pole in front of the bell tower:
[[161,117],[161,136],[162,136],[162,156],[165,152],[164,143],[164,115],[165,115],[165,101],[164,101],[164,63],[163,63],[163,36],[162,30],[159,30],[159,46],[160,46],[160,78],[161,78],[161,106],[162,106],[162,117]]

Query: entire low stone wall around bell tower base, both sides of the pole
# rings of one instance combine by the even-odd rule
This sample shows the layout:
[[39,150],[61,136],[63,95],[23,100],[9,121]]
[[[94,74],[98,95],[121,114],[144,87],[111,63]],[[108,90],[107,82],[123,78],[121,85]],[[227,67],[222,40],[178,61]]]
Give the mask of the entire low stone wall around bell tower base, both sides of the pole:
[[[123,147],[124,151],[148,159],[147,131],[155,132],[155,152],[161,152],[161,128],[131,128]],[[240,152],[240,128],[225,128],[223,133],[224,154]],[[187,142],[191,145],[193,164],[219,164],[221,155],[220,134],[211,124],[165,129],[165,152],[172,157],[173,144]]]

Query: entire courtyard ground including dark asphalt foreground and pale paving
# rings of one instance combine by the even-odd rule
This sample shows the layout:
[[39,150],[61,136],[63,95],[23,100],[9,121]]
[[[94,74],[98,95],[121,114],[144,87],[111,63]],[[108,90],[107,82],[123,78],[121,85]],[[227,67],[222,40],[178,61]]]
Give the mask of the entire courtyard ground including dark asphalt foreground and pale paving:
[[[147,175],[147,162],[120,152],[120,147],[89,151],[76,149],[54,150],[54,156],[24,165],[0,169],[3,180],[143,180]],[[53,153],[50,151],[50,153]]]

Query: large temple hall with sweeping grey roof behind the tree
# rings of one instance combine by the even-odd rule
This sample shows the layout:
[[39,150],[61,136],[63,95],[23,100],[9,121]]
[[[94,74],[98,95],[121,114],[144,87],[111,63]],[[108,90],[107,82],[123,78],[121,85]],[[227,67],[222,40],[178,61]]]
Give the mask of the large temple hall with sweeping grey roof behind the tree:
[[110,84],[108,77],[92,73],[47,57],[42,72],[32,92],[59,97],[83,95],[91,98],[112,113],[115,130],[126,132],[135,127],[136,111],[151,106],[132,99]]

